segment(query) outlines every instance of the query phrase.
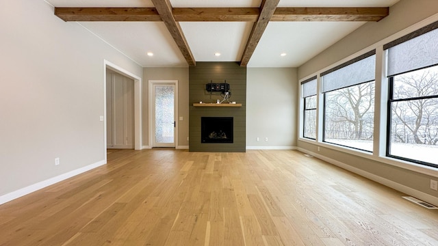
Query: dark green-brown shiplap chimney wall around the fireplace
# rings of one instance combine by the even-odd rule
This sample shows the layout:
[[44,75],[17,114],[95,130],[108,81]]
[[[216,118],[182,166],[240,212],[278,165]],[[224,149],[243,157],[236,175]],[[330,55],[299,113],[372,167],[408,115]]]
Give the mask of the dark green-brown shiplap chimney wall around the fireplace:
[[[222,100],[220,92],[207,92],[205,84],[230,84],[230,101],[242,107],[193,107],[193,103]],[[237,62],[196,62],[189,68],[189,150],[191,152],[246,151],[246,67]],[[233,143],[201,143],[201,117],[233,117]]]

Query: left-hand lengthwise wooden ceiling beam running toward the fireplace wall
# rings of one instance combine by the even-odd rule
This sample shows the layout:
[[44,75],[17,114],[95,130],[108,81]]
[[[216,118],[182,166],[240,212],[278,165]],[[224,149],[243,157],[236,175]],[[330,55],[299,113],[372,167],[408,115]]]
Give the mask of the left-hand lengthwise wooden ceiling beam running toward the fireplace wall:
[[185,40],[183,31],[181,26],[175,20],[175,17],[172,13],[172,5],[170,5],[169,0],[151,0],[159,16],[162,17],[164,24],[170,32],[170,35],[177,43],[179,50],[183,54],[185,61],[189,64],[189,66],[196,66],[196,61],[193,57],[192,51],[190,51],[190,47]]

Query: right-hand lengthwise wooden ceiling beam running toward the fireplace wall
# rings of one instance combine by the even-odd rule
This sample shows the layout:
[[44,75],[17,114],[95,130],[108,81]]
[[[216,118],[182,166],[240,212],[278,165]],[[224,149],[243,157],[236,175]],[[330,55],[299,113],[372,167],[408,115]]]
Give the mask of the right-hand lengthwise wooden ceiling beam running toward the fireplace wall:
[[260,41],[263,32],[268,26],[269,20],[276,10],[276,5],[280,0],[262,0],[260,5],[260,16],[256,23],[253,25],[253,29],[249,35],[248,42],[246,43],[242,59],[240,59],[240,66],[248,65],[248,61],[253,56],[255,47]]

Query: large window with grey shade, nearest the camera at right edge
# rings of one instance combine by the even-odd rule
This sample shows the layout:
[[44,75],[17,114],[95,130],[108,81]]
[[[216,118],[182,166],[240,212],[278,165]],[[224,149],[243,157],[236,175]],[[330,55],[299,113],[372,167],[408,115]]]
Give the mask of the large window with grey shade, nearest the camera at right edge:
[[438,167],[438,23],[384,46],[387,156]]

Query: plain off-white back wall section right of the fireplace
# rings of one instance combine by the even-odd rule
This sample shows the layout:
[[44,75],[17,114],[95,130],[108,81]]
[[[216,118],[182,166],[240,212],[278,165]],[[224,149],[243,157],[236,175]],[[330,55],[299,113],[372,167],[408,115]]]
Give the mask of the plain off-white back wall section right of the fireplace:
[[[296,146],[296,72],[296,68],[247,68],[247,149],[292,149]],[[268,141],[265,141],[266,137]]]

